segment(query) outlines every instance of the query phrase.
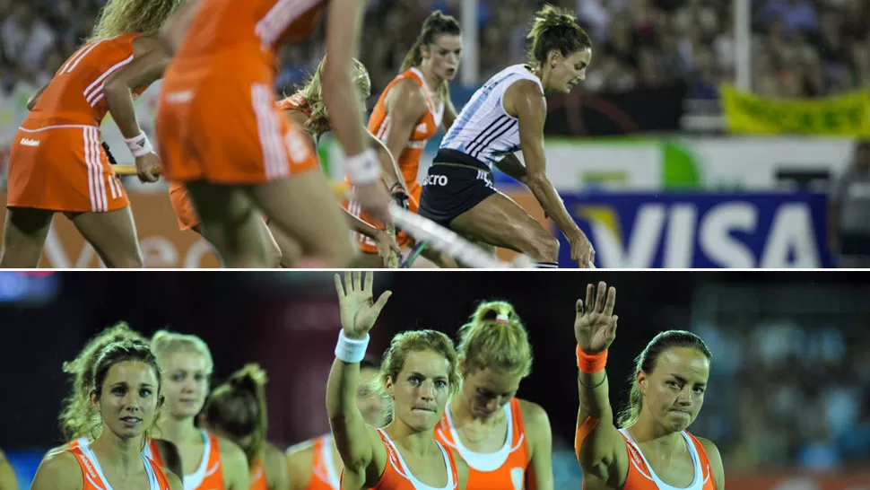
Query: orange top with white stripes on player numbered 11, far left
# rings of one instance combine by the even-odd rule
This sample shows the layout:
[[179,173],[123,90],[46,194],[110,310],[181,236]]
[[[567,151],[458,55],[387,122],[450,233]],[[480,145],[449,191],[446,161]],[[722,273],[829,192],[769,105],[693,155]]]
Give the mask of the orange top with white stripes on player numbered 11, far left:
[[[48,82],[22,127],[100,126],[109,112],[103,94],[106,79],[133,61],[133,41],[140,37],[141,34],[121,34],[78,48]],[[137,87],[134,93],[138,95],[147,88],[147,85]]]

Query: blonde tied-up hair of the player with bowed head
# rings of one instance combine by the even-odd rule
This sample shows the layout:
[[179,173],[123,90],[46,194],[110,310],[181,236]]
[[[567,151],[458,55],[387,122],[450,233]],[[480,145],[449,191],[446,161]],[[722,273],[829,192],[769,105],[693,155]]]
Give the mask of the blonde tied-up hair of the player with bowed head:
[[482,302],[470,320],[459,328],[457,352],[465,358],[463,376],[487,367],[524,378],[532,372],[528,332],[512,304]]

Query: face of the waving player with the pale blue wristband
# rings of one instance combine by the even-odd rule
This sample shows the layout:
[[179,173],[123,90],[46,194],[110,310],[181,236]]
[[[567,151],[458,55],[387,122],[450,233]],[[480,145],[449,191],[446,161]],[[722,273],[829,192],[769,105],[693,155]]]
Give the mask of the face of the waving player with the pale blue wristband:
[[408,353],[396,381],[387,381],[396,418],[416,432],[434,428],[450,396],[449,372],[450,363],[441,354],[430,350]]

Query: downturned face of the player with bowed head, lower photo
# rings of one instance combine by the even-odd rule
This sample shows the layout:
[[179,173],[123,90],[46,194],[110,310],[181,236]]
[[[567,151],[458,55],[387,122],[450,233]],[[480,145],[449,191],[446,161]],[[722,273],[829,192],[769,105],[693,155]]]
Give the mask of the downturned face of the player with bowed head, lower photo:
[[459,396],[475,417],[497,413],[517,394],[522,376],[500,372],[491,367],[465,374]]

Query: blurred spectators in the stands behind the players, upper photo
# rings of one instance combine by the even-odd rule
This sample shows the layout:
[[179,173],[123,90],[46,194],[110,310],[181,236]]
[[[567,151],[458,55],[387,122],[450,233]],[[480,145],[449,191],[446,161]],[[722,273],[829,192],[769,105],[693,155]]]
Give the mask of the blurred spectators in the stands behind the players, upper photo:
[[[434,9],[459,16],[461,0],[368,2],[362,61],[373,92],[396,74]],[[101,0],[0,0],[0,83],[44,83],[91,30]],[[698,99],[735,77],[734,4],[718,0],[553,0],[573,9],[596,43],[582,90],[628,91],[685,80]],[[524,60],[538,2],[480,0],[480,75]],[[864,0],[752,0],[753,90],[804,97],[870,83],[870,3]],[[320,43],[287,49],[279,84],[316,66]]]

